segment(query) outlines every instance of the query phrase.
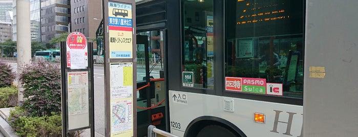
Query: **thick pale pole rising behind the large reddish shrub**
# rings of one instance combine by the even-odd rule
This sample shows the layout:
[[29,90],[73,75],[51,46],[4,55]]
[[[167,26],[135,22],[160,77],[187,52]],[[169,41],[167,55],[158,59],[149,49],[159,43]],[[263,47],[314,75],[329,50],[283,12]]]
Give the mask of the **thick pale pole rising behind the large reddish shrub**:
[[[17,73],[22,73],[24,63],[31,63],[30,0],[16,1],[17,22]],[[18,105],[24,100],[22,85],[17,84]]]

